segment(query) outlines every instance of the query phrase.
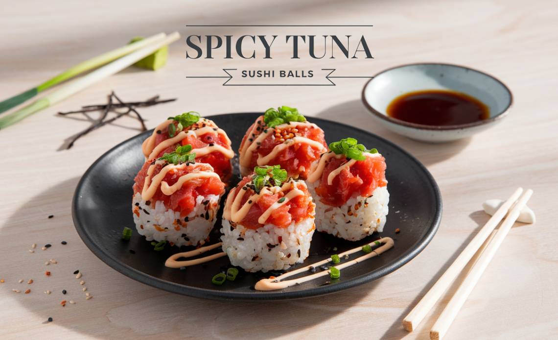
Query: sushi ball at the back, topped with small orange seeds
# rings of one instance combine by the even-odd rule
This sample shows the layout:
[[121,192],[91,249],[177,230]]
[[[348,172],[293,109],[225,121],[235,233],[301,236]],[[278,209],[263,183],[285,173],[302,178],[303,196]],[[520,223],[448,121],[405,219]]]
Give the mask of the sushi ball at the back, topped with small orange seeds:
[[297,109],[268,109],[246,132],[239,150],[240,174],[256,166],[279,165],[289,177],[306,179],[312,162],[327,150],[324,131]]

